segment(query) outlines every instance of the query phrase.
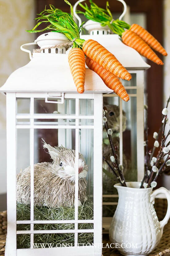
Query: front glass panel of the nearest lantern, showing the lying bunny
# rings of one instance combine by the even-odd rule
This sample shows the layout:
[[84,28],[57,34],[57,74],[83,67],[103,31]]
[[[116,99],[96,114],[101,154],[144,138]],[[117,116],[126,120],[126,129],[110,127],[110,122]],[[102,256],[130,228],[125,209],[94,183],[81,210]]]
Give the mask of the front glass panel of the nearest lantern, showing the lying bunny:
[[[85,110],[82,106],[86,106]],[[17,190],[22,190],[20,197],[17,192],[18,249],[54,241],[50,247],[63,241],[67,241],[64,246],[93,243],[93,107],[93,99],[65,99],[63,104],[56,104],[46,103],[44,98],[31,98],[30,112],[17,114],[17,173],[22,169],[25,175],[21,181],[19,174],[17,180]],[[75,150],[76,145],[82,154],[78,155],[78,183],[75,182],[76,151],[66,150],[64,156],[60,151],[63,147]],[[62,148],[57,151],[58,147]],[[87,177],[80,177],[84,166],[87,166]],[[65,178],[69,180],[66,186]],[[86,180],[84,183],[82,178]],[[82,197],[80,194],[76,197],[76,186]],[[82,232],[74,233],[77,229]]]

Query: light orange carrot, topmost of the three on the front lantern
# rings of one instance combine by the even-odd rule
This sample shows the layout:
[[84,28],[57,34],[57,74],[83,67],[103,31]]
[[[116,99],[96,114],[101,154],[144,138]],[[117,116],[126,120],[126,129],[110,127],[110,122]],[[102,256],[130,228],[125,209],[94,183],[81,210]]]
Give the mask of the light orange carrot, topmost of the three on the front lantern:
[[104,69],[122,79],[130,80],[131,74],[121,65],[117,58],[100,43],[88,39],[83,43],[83,52]]

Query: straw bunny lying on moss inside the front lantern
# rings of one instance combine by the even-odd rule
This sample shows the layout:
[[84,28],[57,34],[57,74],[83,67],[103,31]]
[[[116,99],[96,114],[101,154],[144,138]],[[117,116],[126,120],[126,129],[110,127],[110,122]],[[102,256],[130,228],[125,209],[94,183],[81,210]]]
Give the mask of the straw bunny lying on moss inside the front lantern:
[[[50,208],[74,205],[75,150],[52,147],[44,141],[53,163],[34,164],[34,205]],[[87,200],[88,166],[79,153],[79,199],[78,205]],[[17,175],[17,202],[30,204],[30,166]]]

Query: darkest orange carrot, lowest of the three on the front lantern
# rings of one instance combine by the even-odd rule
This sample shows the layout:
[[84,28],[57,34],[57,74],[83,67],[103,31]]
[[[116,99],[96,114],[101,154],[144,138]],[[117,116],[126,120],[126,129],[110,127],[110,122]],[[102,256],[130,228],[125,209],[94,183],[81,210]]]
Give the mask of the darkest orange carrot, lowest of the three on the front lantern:
[[121,81],[118,79],[116,75],[111,73],[110,71],[104,69],[102,66],[97,64],[95,61],[91,60],[86,56],[86,65],[89,69],[96,72],[105,85],[113,90],[119,97],[121,97],[124,101],[129,101],[129,95],[127,94],[124,86]]

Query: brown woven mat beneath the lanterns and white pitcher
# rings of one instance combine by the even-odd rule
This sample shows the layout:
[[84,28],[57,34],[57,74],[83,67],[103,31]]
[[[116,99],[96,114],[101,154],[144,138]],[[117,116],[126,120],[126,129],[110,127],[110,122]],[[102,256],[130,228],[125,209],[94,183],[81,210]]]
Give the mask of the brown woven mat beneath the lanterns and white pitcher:
[[[161,221],[167,210],[167,200],[166,199],[155,199],[155,210],[158,216],[159,221]],[[0,256],[4,256],[5,254],[5,243],[6,243],[6,229],[7,229],[7,221],[6,221],[6,211],[0,212]],[[103,244],[109,244],[109,238],[107,234],[103,235]],[[160,240],[159,245],[157,248],[149,254],[149,256],[155,256],[156,254],[159,254],[158,256],[170,256],[170,250],[163,252],[160,254],[160,252],[170,248],[170,220],[167,225],[164,227],[164,233]],[[122,254],[119,253],[117,249],[112,248],[103,248],[103,256],[122,256]]]

